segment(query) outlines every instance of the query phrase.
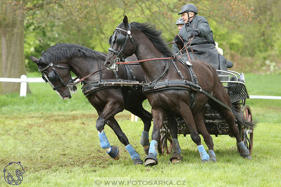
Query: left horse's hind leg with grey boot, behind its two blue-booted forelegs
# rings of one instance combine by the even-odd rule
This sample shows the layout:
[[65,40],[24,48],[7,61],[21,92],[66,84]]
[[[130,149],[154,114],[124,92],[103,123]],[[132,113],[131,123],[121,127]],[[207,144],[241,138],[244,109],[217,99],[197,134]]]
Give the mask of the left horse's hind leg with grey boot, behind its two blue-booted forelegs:
[[138,116],[143,121],[143,132],[140,139],[140,144],[143,146],[144,152],[148,155],[149,150],[149,136],[148,132],[151,127],[152,115],[143,108],[142,104],[135,105],[130,108],[126,108],[126,110],[130,111],[133,115]]

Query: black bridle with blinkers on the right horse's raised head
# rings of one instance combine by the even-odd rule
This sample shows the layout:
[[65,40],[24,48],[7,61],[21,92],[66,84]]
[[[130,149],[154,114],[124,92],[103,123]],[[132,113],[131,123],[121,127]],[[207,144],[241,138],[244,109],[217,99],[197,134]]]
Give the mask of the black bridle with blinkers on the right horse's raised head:
[[114,60],[114,62],[125,62],[125,58],[121,55],[121,53],[123,52],[125,45],[128,41],[128,38],[130,37],[130,39],[132,40],[134,47],[135,47],[135,51],[136,51],[136,44],[133,40],[133,37],[131,36],[131,25],[128,24],[128,30],[124,30],[122,28],[120,28],[119,26],[121,25],[121,23],[115,28],[114,34],[111,35],[111,37],[109,38],[109,44],[111,45],[112,42],[115,41],[115,36],[116,36],[116,32],[119,31],[121,34],[121,31],[124,31],[127,33],[127,36],[125,37],[123,34],[118,34],[117,38],[116,38],[116,44],[119,44],[122,46],[120,51],[116,51],[115,49],[112,49],[111,47],[108,48],[108,51],[112,51],[113,53],[116,54],[116,59]]

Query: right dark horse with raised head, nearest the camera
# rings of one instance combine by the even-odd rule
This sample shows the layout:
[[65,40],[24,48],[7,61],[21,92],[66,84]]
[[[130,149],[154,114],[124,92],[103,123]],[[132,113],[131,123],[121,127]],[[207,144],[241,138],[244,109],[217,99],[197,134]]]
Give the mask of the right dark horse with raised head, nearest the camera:
[[[123,39],[128,37],[131,39]],[[132,22],[128,24],[127,16],[116,27],[111,40],[113,42],[105,60],[105,66],[110,69],[115,69],[116,62],[119,62],[120,59],[133,54],[136,54],[138,60],[164,57],[174,58],[172,57],[173,53],[171,49],[164,43],[161,31],[157,31],[155,26],[149,23]],[[162,128],[165,117],[169,117],[171,114],[183,117],[192,140],[198,146],[202,162],[209,160],[211,156],[215,155],[213,152],[213,140],[208,134],[203,120],[206,112],[204,105],[206,103],[209,103],[214,110],[219,111],[226,119],[229,124],[229,130],[237,140],[241,156],[251,159],[249,150],[245,147],[239,136],[239,130],[235,125],[235,117],[239,120],[241,127],[243,125],[249,127],[253,123],[242,121],[239,113],[230,109],[231,103],[229,96],[221,84],[215,68],[210,63],[204,60],[191,61],[191,64],[194,66],[192,70],[197,77],[192,75],[193,73],[190,70],[191,64],[187,64],[177,58],[172,60],[160,59],[140,62],[140,66],[149,84],[154,84],[155,82],[164,84],[164,86],[161,85],[164,89],[158,89],[158,86],[155,86],[155,91],[147,92],[146,95],[152,106],[153,132],[149,155],[145,159],[145,165],[151,166],[157,164],[157,141],[160,137],[160,129]],[[198,79],[199,84],[196,84],[196,80],[192,81],[192,79]],[[169,84],[169,81],[176,82],[179,86],[172,86]],[[182,89],[188,86],[189,90],[193,90],[193,92]],[[190,101],[194,98],[190,97],[191,93],[198,93],[193,107],[190,107]],[[194,96],[196,94],[192,95]],[[210,99],[212,97],[214,98],[213,100]],[[217,102],[214,100],[217,100]],[[221,104],[218,104],[218,102]],[[174,123],[172,128],[169,128],[173,138],[173,155],[177,155],[180,158],[181,149],[177,141],[177,133],[174,133],[177,132],[176,123]],[[202,134],[209,148],[210,157],[201,145],[201,138],[197,131]]]

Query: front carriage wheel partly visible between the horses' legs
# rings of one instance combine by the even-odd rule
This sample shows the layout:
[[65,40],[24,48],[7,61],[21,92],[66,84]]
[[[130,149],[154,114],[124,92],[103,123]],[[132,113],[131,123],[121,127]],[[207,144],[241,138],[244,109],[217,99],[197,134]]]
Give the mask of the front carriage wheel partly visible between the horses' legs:
[[160,145],[158,146],[158,153],[161,153],[162,155],[164,155],[165,153],[170,154],[172,152],[172,147],[173,143],[170,130],[167,125],[163,125],[160,134]]

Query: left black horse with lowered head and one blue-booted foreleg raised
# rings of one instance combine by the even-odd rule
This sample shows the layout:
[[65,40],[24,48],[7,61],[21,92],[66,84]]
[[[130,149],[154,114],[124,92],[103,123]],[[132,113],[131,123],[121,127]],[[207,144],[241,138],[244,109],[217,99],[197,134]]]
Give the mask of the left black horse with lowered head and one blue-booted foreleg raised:
[[[33,56],[30,56],[30,59],[38,65],[39,71],[42,73],[42,78],[46,81],[46,83],[49,82],[61,98],[70,99],[71,93],[69,88],[71,88],[70,90],[72,93],[75,93],[77,89],[76,86],[73,86],[73,81],[71,81],[70,71],[72,71],[77,77],[85,77],[104,67],[106,55],[107,54],[105,53],[93,51],[84,46],[60,43],[51,46],[45,52],[43,51],[39,59]],[[136,57],[129,57],[128,60],[136,60]],[[115,82],[119,82],[117,79],[126,80],[128,79],[127,74],[134,74],[133,77],[135,76],[137,81],[143,82],[145,80],[143,71],[138,66],[139,65],[135,65],[129,68],[132,70],[131,72],[126,71],[128,67],[120,66],[118,70],[118,77],[116,77],[113,71],[100,71],[95,75],[86,78],[83,81],[83,87],[87,87],[87,82],[99,81],[101,79],[115,79]],[[102,89],[95,92],[89,92],[90,94],[87,94],[88,101],[93,107],[95,107],[99,115],[96,122],[96,128],[99,132],[100,145],[115,160],[119,159],[120,153],[117,146],[110,146],[110,143],[104,133],[105,124],[112,128],[121,143],[126,146],[133,163],[143,164],[143,161],[140,160],[139,153],[133,148],[133,146],[131,146],[128,138],[122,132],[119,124],[114,119],[114,116],[117,113],[122,112],[124,109],[140,117],[143,121],[144,130],[140,142],[146,150],[146,154],[148,154],[148,131],[151,126],[152,116],[142,106],[146,96],[143,95],[141,88],[142,87],[140,85],[136,86],[134,90],[127,86],[115,86],[115,88],[102,87]],[[87,91],[87,89],[85,91]]]

